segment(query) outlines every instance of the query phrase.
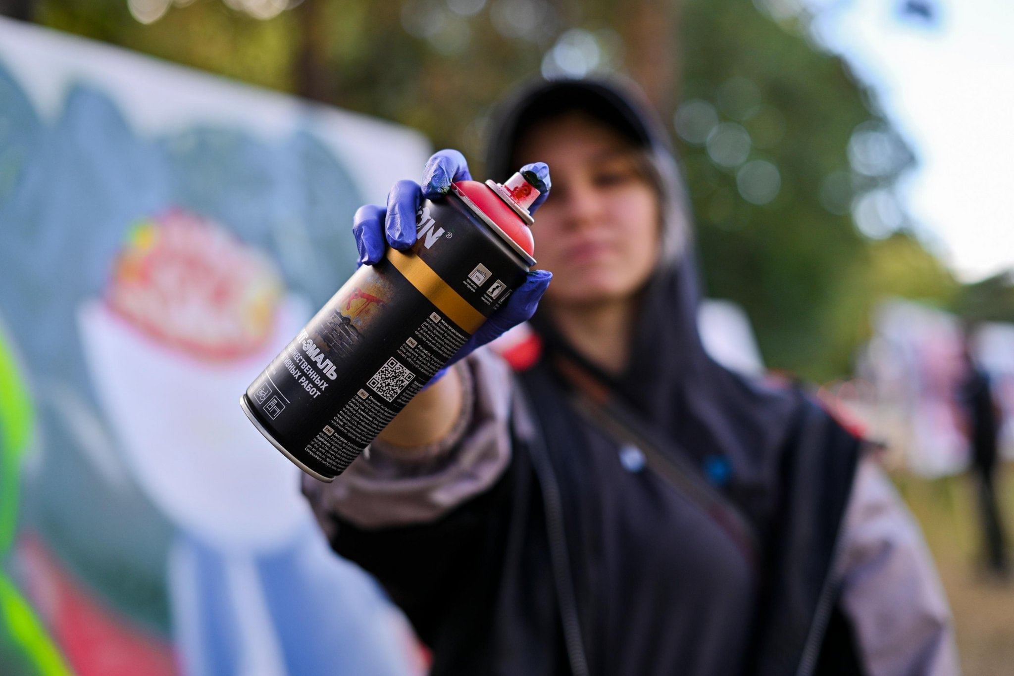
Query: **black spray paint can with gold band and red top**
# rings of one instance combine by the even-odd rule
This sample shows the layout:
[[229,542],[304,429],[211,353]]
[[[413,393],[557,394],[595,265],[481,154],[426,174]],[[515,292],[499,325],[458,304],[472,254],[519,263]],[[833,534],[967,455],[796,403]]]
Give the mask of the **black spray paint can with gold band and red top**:
[[515,173],[424,201],[412,248],[356,271],[240,396],[243,412],[333,480],[525,281],[538,195]]

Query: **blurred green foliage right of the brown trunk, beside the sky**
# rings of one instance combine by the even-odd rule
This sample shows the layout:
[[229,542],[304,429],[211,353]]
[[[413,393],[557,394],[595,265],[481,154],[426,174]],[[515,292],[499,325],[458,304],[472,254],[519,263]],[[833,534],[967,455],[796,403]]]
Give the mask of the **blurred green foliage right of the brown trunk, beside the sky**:
[[[868,337],[870,294],[903,293],[878,279],[893,244],[864,236],[852,205],[876,198],[862,213],[877,234],[904,225],[892,186],[914,156],[848,65],[814,49],[805,14],[755,4],[687,0],[674,123],[709,294],[747,310],[770,366],[822,381],[847,373]],[[910,257],[933,260],[903,242]],[[907,274],[922,276],[894,271]]]

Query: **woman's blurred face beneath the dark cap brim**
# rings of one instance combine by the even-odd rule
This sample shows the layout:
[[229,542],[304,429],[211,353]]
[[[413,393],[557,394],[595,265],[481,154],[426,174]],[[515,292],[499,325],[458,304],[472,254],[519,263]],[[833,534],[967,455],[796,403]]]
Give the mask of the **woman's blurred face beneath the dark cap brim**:
[[538,124],[518,151],[521,163],[549,164],[553,179],[533,231],[538,268],[554,275],[546,300],[628,300],[651,275],[660,238],[658,200],[630,142],[572,114]]

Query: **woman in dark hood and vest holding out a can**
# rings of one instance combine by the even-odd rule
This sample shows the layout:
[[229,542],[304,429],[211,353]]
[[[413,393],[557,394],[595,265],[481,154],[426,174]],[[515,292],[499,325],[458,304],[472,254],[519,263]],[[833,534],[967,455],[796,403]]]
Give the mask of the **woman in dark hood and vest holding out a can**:
[[[539,82],[495,121],[492,177],[553,169],[534,226],[553,280],[538,303],[532,272],[475,343],[534,310],[537,350],[514,370],[467,354],[368,457],[303,484],[432,673],[957,673],[932,560],[862,441],[706,354],[689,202],[641,94]],[[360,261],[411,245],[419,201],[466,177],[441,151],[361,209]]]

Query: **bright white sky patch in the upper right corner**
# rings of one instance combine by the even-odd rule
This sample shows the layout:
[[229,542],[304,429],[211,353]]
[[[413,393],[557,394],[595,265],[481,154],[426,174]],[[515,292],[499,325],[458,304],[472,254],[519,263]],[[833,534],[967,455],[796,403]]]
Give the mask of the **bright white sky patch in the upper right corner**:
[[[902,16],[929,5],[932,21]],[[810,0],[916,152],[901,199],[965,282],[1014,269],[1014,0]]]

